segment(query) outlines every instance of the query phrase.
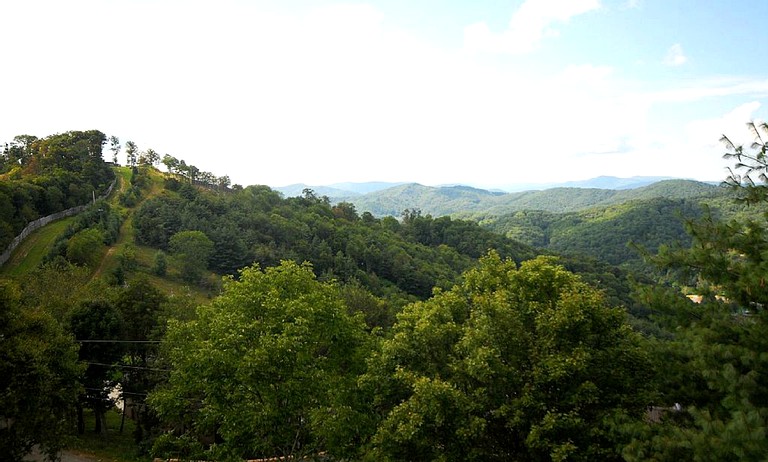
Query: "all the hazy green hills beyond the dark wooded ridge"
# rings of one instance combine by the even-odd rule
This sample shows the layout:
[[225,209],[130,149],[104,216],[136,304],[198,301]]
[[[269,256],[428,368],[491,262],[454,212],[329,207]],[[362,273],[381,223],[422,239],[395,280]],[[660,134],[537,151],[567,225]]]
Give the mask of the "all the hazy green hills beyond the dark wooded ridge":
[[635,189],[552,188],[492,193],[469,187],[401,185],[347,200],[374,215],[471,219],[513,240],[559,254],[597,258],[648,271],[636,247],[687,245],[684,218],[703,207],[726,219],[755,213],[734,205],[723,187],[692,180],[662,180]]

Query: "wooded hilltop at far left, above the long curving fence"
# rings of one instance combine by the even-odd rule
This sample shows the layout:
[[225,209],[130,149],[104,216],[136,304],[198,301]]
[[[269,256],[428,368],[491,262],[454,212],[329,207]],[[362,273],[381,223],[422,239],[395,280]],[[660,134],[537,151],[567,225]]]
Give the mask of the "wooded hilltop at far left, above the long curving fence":
[[0,248],[30,221],[87,203],[114,174],[102,159],[98,130],[37,138],[16,136],[0,151]]

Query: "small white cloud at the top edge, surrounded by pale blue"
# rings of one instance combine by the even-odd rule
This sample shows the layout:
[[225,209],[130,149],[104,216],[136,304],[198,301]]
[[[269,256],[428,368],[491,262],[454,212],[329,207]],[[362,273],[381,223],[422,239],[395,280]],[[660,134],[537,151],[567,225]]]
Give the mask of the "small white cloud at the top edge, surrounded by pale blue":
[[464,47],[483,53],[528,53],[543,39],[558,36],[557,24],[598,8],[599,0],[526,0],[500,34],[492,32],[485,22],[467,26]]

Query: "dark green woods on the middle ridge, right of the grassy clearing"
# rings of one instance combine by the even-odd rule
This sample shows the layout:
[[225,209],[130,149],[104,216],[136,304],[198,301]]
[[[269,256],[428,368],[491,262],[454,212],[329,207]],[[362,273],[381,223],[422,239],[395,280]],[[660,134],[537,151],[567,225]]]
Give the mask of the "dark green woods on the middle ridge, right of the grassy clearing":
[[488,249],[522,261],[531,248],[476,223],[408,212],[402,221],[358,214],[307,190],[283,198],[266,186],[212,194],[175,178],[134,216],[136,241],[168,252],[173,236],[200,231],[211,240],[208,268],[220,274],[282,260],[312,262],[324,279],[357,280],[378,295],[428,297],[449,287]]

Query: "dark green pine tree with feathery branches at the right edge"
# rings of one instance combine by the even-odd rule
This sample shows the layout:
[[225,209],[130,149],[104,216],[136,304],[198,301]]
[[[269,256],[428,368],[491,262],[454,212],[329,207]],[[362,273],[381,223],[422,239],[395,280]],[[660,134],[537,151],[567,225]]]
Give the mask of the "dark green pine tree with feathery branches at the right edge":
[[[726,184],[755,205],[768,200],[761,136],[768,125],[748,127],[756,141],[747,148],[723,137],[725,157],[736,161]],[[628,460],[764,460],[768,454],[768,215],[761,218],[690,222],[690,248],[665,248],[655,258],[678,277],[675,285],[639,290],[669,338],[657,346],[664,371],[658,404],[679,403],[683,412],[632,428]],[[688,300],[681,286],[701,303]]]

